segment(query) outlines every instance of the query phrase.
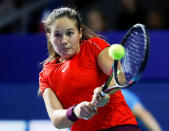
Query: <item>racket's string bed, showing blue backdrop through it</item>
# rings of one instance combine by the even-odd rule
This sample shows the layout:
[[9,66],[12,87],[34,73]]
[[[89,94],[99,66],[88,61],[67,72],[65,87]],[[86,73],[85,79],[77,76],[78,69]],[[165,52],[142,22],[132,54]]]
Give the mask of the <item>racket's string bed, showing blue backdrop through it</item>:
[[145,57],[145,37],[141,29],[131,32],[125,42],[126,54],[122,59],[122,68],[125,73],[126,82],[137,76]]

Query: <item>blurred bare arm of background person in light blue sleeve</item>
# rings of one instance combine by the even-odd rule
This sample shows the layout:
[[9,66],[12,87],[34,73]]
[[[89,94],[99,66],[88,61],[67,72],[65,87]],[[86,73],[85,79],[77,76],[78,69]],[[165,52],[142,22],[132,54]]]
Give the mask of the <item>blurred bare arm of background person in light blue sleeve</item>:
[[162,131],[156,119],[141,104],[137,103],[134,106],[133,113],[135,114],[136,117],[140,118],[143,121],[145,126],[150,131]]

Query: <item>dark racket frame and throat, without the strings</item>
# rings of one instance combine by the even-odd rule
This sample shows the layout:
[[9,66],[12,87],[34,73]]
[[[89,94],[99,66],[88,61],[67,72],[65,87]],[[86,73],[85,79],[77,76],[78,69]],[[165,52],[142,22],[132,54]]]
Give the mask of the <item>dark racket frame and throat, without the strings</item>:
[[[119,63],[119,61],[118,60],[114,60],[114,63],[112,64],[112,69],[111,69],[111,71],[110,71],[110,75],[109,75],[109,77],[108,77],[108,79],[107,79],[107,81],[106,81],[106,83],[104,84],[104,86],[102,87],[102,93],[101,93],[101,95],[102,96],[105,96],[105,93],[108,93],[108,92],[110,92],[111,90],[113,90],[113,89],[118,89],[118,88],[120,88],[120,89],[124,89],[124,88],[128,88],[128,87],[130,87],[131,85],[133,85],[134,83],[136,83],[139,79],[140,79],[140,77],[141,77],[141,75],[142,75],[142,73],[143,73],[143,71],[144,71],[144,69],[145,69],[145,66],[146,66],[146,63],[147,63],[147,60],[148,60],[148,54],[149,54],[149,34],[148,34],[148,31],[147,31],[147,29],[146,29],[146,27],[143,25],[143,24],[135,24],[134,26],[132,26],[128,31],[127,31],[127,33],[125,34],[125,36],[123,37],[123,39],[122,39],[122,41],[121,41],[121,45],[124,47],[124,45],[125,45],[125,42],[127,41],[127,39],[128,39],[128,37],[130,36],[130,34],[134,31],[134,30],[136,30],[136,29],[138,29],[138,28],[141,28],[141,30],[143,31],[143,33],[144,33],[144,37],[145,37],[145,39],[144,39],[144,43],[146,44],[145,45],[145,47],[146,47],[146,50],[145,50],[145,55],[144,55],[144,61],[142,62],[142,64],[140,65],[140,69],[139,69],[139,71],[138,71],[138,74],[135,76],[135,77],[133,77],[128,83],[126,83],[125,85],[121,85],[120,84],[120,82],[119,82],[119,80],[118,80],[118,63]],[[112,78],[114,79],[114,82],[115,82],[115,86],[112,86],[112,87],[109,87],[108,88],[108,86],[110,85],[110,82],[112,81]]]

